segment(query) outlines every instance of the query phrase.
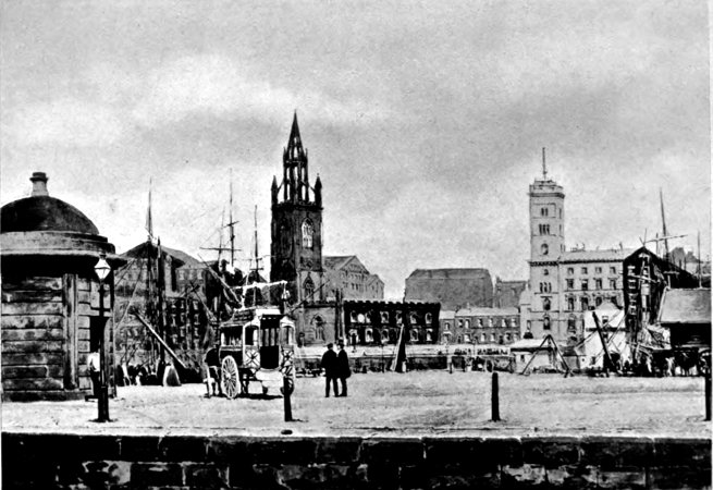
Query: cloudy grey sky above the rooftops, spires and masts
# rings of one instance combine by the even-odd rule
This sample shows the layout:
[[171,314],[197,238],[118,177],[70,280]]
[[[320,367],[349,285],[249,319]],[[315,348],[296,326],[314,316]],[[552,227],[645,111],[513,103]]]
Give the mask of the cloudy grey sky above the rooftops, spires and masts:
[[[403,297],[417,268],[528,278],[528,185],[567,246],[711,248],[706,2],[1,2],[0,200],[33,171],[124,252],[218,246],[230,183],[248,267],[297,111],[325,255]],[[232,174],[232,179],[231,179]],[[312,182],[314,183],[314,182]]]

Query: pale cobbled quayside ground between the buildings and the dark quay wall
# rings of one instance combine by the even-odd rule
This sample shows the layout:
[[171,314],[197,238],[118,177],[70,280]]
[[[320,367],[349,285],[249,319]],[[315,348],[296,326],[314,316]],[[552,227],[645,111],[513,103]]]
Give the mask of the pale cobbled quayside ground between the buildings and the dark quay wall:
[[[324,378],[297,378],[293,416],[282,397],[206,397],[204,384],[126,387],[97,425],[96,402],[2,405],[11,430],[107,433],[642,434],[709,437],[702,378],[563,378],[499,373],[502,421],[490,421],[491,375],[419,371],[354,375],[347,397],[324,397]],[[254,387],[258,392],[259,387]]]

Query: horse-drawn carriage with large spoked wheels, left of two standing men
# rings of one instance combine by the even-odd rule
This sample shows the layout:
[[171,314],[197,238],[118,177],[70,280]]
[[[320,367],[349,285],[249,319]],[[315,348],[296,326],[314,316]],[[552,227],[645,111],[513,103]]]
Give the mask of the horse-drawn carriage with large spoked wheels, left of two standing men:
[[[248,395],[250,383],[262,394],[290,393],[295,387],[295,323],[275,307],[236,311],[220,326],[218,355],[223,393]],[[286,381],[286,384],[285,384]]]

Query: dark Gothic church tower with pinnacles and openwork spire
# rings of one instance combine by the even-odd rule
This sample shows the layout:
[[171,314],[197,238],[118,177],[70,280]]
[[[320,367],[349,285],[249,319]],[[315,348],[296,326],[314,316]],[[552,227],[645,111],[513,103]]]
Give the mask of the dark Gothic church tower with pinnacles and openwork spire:
[[322,184],[309,184],[307,150],[295,112],[282,155],[282,182],[272,180],[271,281],[287,281],[290,302],[324,301]]

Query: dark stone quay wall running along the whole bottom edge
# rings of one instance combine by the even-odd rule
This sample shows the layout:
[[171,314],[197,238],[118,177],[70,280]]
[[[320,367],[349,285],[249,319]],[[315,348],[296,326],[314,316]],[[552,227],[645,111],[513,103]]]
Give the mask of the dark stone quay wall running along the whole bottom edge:
[[2,449],[4,488],[711,488],[710,439],[4,432]]

